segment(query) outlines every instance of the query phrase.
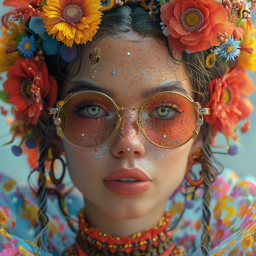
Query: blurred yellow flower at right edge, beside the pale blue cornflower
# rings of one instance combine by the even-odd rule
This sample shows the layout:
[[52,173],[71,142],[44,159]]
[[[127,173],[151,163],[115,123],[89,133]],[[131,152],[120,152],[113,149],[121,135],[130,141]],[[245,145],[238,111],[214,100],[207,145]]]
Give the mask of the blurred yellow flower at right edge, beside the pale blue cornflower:
[[[256,28],[254,28],[254,25],[250,28],[245,22],[243,22],[241,27],[243,27],[245,33],[242,44],[240,45],[241,53],[237,57],[238,65],[254,72],[256,70]],[[250,48],[252,52],[248,51],[248,48]]]

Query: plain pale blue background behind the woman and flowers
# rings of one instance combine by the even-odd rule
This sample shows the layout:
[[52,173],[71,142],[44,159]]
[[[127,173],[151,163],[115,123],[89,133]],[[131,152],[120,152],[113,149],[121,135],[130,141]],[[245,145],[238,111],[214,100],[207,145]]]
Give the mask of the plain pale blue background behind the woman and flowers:
[[[3,0],[0,0],[0,16],[8,10],[7,8],[2,7],[2,2]],[[255,23],[255,20],[256,10],[253,10],[252,22]],[[254,83],[256,83],[256,73],[249,73],[249,75],[254,80]],[[0,81],[0,90],[2,90],[2,81]],[[256,93],[254,93],[250,99],[254,106],[256,106]],[[0,102],[0,105],[3,105],[3,103]],[[5,107],[9,108],[7,105],[5,105]],[[10,114],[8,116],[10,116]],[[26,182],[30,171],[27,164],[27,156],[21,155],[20,157],[16,157],[11,153],[11,146],[2,146],[11,140],[11,136],[8,135],[10,126],[6,124],[5,119],[6,117],[0,115],[0,172],[7,173],[19,182]],[[251,130],[246,134],[240,135],[242,146],[240,147],[239,154],[236,156],[216,155],[225,167],[233,169],[236,173],[242,176],[248,174],[256,176],[256,110],[253,112],[250,119],[252,121]],[[15,140],[15,144],[19,144],[18,139]],[[224,136],[218,137],[218,144],[226,145]],[[216,149],[216,151],[218,151],[218,149]]]

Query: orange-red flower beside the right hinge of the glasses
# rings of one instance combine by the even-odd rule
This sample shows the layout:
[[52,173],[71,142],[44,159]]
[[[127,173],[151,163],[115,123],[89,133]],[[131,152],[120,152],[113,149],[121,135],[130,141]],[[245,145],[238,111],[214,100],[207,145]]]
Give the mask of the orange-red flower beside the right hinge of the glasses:
[[243,67],[226,70],[219,79],[211,82],[213,94],[205,106],[211,115],[205,116],[213,125],[213,136],[224,133],[228,139],[234,136],[238,121],[247,118],[254,107],[247,98],[254,92],[254,83]]

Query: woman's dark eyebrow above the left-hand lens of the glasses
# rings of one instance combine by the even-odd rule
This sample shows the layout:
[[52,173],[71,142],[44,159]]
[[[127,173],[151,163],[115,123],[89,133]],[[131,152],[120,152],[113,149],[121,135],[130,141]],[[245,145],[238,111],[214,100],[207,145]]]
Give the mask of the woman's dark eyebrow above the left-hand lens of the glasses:
[[109,90],[89,79],[79,80],[73,83],[73,85],[74,86],[67,92],[67,94],[81,92],[81,91],[95,91],[95,92],[104,93],[111,98],[115,96],[115,93],[113,90]]

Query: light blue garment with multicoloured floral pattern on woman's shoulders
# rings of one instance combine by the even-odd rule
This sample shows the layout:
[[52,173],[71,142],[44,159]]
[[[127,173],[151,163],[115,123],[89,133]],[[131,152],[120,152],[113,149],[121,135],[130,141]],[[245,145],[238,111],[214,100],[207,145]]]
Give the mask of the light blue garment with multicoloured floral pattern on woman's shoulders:
[[[56,256],[74,244],[76,234],[67,225],[57,197],[50,195],[50,253],[36,247],[32,243],[37,225],[34,193],[3,174],[0,184],[0,255]],[[67,195],[67,207],[77,219],[83,207],[78,191],[72,190]],[[202,190],[198,189],[193,199],[185,200],[179,187],[167,200],[166,210],[173,216],[170,224],[175,226],[173,242],[184,246],[189,256],[201,256]],[[225,169],[212,185],[211,214],[213,242],[209,256],[256,255],[256,177],[241,180],[236,173]]]

